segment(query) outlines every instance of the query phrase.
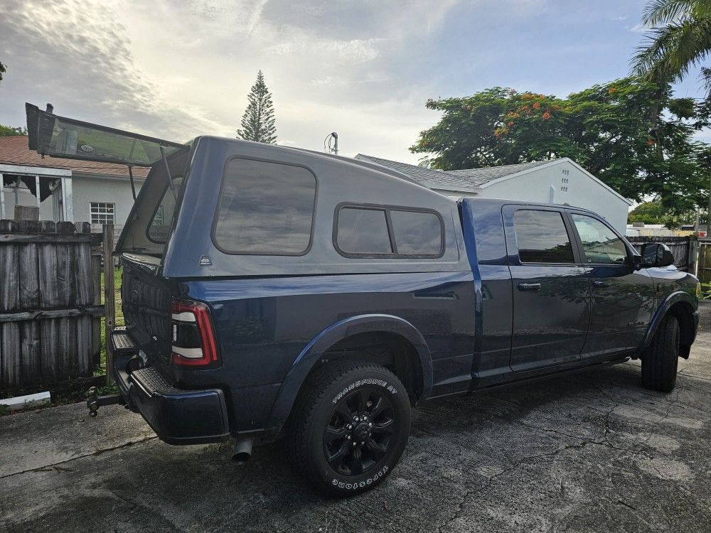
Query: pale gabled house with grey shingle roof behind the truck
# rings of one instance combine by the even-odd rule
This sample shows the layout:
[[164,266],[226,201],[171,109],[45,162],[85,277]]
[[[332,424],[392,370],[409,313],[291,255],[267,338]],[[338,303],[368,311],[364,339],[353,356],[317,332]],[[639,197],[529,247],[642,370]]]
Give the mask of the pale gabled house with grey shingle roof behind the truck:
[[631,201],[567,157],[462,171],[435,171],[363,154],[355,158],[399,171],[453,198],[505,198],[589,209],[605,217],[622,235],[626,230],[629,206],[632,205]]

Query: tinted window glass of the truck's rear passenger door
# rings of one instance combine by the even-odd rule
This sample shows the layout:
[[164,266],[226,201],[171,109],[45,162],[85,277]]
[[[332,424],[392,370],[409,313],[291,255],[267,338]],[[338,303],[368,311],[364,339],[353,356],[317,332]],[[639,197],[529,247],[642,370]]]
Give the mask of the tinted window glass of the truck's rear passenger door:
[[563,217],[556,211],[519,210],[515,215],[522,263],[572,263],[573,249]]

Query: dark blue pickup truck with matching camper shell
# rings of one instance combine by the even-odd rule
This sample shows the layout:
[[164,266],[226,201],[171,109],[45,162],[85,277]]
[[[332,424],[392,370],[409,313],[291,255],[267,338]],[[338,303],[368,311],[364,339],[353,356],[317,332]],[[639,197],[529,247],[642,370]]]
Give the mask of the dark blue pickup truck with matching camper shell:
[[418,402],[630,357],[669,392],[689,356],[697,279],[593,212],[267,144],[164,148],[117,243],[112,343],[121,401],[168,443],[235,438],[245,461],[284,436],[352,495],[395,467]]

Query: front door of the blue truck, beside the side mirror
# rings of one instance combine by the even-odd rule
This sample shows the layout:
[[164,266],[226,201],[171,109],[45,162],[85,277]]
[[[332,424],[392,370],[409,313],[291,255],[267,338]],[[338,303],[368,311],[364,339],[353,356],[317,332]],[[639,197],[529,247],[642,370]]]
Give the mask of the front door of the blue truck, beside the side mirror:
[[654,310],[653,280],[646,269],[634,269],[632,250],[604,220],[573,210],[570,220],[592,293],[582,357],[635,350]]

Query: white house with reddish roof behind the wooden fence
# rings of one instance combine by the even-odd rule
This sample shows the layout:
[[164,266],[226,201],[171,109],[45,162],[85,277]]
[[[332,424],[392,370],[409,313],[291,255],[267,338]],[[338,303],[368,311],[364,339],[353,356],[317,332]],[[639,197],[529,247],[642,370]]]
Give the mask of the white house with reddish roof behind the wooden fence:
[[[137,194],[148,170],[132,169]],[[127,166],[42,157],[28,149],[26,136],[0,137],[0,175],[0,218],[13,218],[16,204],[39,205],[41,220],[112,223],[119,229],[134,201]]]

